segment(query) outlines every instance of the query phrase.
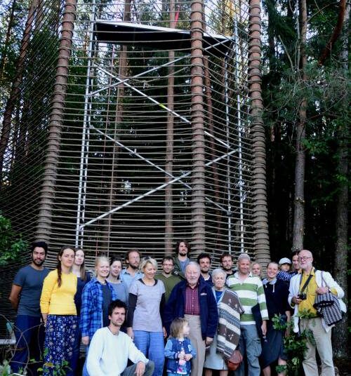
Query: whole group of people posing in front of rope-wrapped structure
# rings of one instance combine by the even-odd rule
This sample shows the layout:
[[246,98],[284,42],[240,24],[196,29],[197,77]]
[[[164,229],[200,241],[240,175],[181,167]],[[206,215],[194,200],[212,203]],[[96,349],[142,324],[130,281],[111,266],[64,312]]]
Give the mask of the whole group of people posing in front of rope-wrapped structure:
[[[220,267],[211,271],[211,255],[190,259],[186,240],[176,244],[175,257],[163,257],[159,273],[157,260],[141,258],[136,249],[124,260],[96,257],[93,275],[84,250],[62,247],[53,271],[44,267],[47,252],[46,243],[33,243],[31,263],[13,281],[13,372],[27,368],[36,375],[38,365],[28,359],[41,354],[44,375],[61,369],[80,375],[84,344],[84,376],[211,376],[213,370],[227,376],[235,349],[245,358],[236,376],[245,375],[246,364],[249,376],[269,376],[273,363],[286,364],[285,333],[272,318],[290,321],[293,313],[294,331],[310,328],[316,340],[307,343],[305,375],[318,375],[316,347],[322,375],[334,375],[331,326],[318,316],[314,300],[326,292],[340,299],[343,290],[331,274],[313,267],[309,250],[295,253],[292,262],[270,262],[265,278],[247,253],[238,256],[235,270],[232,255],[223,253]],[[310,315],[298,323],[305,310]]]

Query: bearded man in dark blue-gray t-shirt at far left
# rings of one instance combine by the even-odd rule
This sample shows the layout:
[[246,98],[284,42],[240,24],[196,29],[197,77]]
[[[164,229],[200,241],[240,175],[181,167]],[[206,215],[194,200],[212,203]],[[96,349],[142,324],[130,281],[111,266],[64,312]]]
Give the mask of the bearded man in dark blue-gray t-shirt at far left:
[[[48,246],[44,241],[32,243],[32,262],[22,267],[15,275],[8,298],[13,309],[17,311],[15,337],[17,341],[15,355],[11,361],[11,370],[16,373],[24,370],[30,358],[39,361],[44,344],[44,326],[41,325],[40,295],[44,278],[49,270],[43,267]],[[27,369],[27,375],[37,375],[39,365]]]

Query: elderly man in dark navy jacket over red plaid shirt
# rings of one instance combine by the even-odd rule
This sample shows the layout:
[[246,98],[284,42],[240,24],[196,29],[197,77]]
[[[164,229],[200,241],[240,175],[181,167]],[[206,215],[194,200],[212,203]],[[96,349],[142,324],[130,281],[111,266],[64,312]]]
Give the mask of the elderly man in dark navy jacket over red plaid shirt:
[[192,376],[201,376],[204,368],[206,346],[216,334],[218,311],[211,287],[200,278],[197,262],[189,262],[185,268],[185,281],[172,290],[164,309],[164,324],[169,333],[171,322],[176,317],[185,317],[190,324],[190,340],[197,351],[192,360]]

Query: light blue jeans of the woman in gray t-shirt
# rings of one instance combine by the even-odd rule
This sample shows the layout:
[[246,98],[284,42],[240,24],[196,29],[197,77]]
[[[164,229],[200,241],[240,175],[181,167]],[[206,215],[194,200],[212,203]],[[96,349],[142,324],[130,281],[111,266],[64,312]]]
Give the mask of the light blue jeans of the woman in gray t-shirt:
[[162,376],[164,370],[164,333],[134,330],[134,344],[154,362],[153,376]]

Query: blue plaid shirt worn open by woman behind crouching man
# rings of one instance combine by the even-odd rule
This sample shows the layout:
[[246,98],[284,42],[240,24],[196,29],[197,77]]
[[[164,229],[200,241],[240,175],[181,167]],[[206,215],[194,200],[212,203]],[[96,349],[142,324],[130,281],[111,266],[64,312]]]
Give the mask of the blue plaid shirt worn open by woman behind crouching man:
[[[106,283],[111,291],[111,300],[116,300],[118,297],[113,286],[107,281]],[[94,278],[86,283],[81,295],[81,337],[88,336],[91,339],[100,328],[102,328],[102,285]]]

